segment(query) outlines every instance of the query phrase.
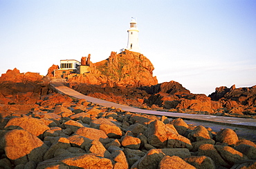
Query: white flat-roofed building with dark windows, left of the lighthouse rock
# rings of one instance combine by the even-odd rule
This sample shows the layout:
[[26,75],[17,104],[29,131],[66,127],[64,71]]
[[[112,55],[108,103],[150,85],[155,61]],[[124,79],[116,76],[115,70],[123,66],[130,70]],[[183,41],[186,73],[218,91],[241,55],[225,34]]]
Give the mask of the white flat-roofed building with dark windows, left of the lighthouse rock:
[[54,77],[68,78],[69,74],[80,73],[80,61],[75,59],[60,60],[60,69],[54,70]]

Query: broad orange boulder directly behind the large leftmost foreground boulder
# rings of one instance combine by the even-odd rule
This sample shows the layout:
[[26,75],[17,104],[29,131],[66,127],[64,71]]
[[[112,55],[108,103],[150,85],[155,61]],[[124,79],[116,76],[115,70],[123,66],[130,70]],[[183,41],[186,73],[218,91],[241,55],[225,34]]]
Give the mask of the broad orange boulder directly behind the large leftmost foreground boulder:
[[[33,128],[31,126],[33,126]],[[10,121],[8,121],[5,126],[6,130],[13,130],[19,128],[27,130],[36,137],[42,137],[44,132],[50,129],[48,126],[46,126],[44,121],[33,117],[15,117],[10,119]]]

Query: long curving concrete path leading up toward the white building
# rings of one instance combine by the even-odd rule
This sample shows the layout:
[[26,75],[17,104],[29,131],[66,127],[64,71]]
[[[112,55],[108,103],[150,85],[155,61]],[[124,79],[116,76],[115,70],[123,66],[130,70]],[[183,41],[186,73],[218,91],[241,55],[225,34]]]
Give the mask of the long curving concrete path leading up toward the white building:
[[222,117],[222,116],[213,116],[213,115],[194,115],[194,114],[185,114],[185,113],[179,113],[179,112],[161,112],[161,111],[154,111],[154,110],[144,110],[140,108],[133,108],[130,106],[123,106],[118,103],[113,103],[110,101],[104,101],[102,99],[97,99],[94,97],[82,95],[80,92],[77,92],[71,88],[64,86],[62,79],[54,79],[51,82],[51,86],[53,86],[56,90],[58,90],[59,92],[65,95],[69,95],[77,99],[86,99],[87,101],[96,103],[104,107],[110,108],[113,106],[115,108],[121,108],[122,110],[129,111],[129,112],[144,113],[148,115],[158,115],[158,116],[164,115],[166,117],[181,117],[183,119],[192,119],[194,121],[208,121],[211,123],[220,123],[228,126],[240,126],[245,128],[256,129],[256,119]]

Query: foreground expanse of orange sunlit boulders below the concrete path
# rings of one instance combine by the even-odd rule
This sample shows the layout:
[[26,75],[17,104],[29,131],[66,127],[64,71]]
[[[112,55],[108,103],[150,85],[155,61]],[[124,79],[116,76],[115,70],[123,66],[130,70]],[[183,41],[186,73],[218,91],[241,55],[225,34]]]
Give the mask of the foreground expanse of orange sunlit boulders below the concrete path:
[[[2,168],[255,168],[256,144],[228,128],[138,115],[51,93],[1,123]],[[4,116],[4,114],[1,114]]]

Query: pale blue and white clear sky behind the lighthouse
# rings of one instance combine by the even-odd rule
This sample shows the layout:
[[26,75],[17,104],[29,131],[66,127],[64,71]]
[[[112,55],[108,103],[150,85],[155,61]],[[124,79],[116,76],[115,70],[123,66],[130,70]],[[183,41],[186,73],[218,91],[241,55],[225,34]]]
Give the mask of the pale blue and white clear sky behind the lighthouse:
[[138,19],[142,53],[158,83],[209,95],[256,85],[256,1],[0,0],[0,74],[46,75],[60,59],[107,59]]

